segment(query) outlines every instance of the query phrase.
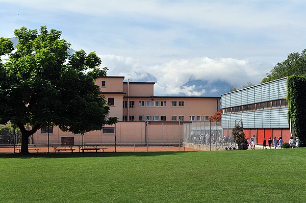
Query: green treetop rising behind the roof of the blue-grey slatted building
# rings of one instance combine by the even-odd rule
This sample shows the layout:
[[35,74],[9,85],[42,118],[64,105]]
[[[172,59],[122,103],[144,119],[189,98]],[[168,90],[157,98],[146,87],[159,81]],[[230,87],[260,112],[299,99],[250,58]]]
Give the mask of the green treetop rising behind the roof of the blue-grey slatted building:
[[290,75],[306,76],[306,49],[302,50],[301,53],[290,53],[286,60],[277,63],[270,73],[267,73],[267,77],[261,83],[285,78]]

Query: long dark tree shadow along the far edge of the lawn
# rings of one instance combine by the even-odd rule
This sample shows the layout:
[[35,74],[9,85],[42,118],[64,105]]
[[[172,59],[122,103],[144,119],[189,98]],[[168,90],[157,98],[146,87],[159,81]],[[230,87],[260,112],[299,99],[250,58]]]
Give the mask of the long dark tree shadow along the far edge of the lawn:
[[1,154],[0,159],[31,159],[31,158],[90,158],[90,157],[156,157],[164,155],[181,155],[197,153],[197,151],[157,151],[157,152],[106,152],[106,153],[30,153],[30,154]]

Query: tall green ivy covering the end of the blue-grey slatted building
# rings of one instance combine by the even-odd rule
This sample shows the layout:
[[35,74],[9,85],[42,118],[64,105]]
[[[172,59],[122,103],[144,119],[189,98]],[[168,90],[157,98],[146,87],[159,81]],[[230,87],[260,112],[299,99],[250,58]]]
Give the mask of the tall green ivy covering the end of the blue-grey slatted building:
[[292,121],[300,146],[306,146],[306,78],[292,75],[287,80],[288,120]]

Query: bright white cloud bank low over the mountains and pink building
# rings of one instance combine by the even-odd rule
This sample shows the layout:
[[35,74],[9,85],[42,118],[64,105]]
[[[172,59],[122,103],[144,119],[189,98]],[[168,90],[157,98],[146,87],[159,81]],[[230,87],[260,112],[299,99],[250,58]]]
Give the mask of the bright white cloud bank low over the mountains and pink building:
[[[206,92],[217,92],[218,89],[196,88],[195,85],[184,86],[192,76],[194,80],[215,82],[224,81],[233,86],[241,87],[247,82],[258,84],[264,77],[263,67],[258,63],[248,60],[208,57],[172,60],[164,64],[146,66],[139,64],[137,60],[122,56],[100,56],[103,66],[109,67],[108,75],[122,75],[125,79],[143,81],[153,75],[157,79],[155,85],[156,95],[185,94],[201,95]],[[264,73],[263,73],[264,72]],[[199,90],[201,89],[201,90]],[[229,87],[230,89],[230,87]]]

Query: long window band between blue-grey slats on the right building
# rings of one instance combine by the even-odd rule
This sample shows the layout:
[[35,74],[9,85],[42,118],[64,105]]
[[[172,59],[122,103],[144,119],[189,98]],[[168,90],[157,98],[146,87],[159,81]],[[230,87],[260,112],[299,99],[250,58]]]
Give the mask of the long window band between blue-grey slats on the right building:
[[274,109],[288,107],[288,103],[286,99],[277,99],[270,102],[260,102],[256,104],[243,105],[238,107],[230,107],[223,109],[224,114],[228,113],[238,113],[238,112],[246,112],[246,111],[259,111],[264,109]]

